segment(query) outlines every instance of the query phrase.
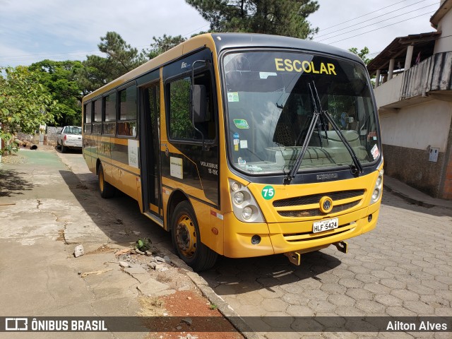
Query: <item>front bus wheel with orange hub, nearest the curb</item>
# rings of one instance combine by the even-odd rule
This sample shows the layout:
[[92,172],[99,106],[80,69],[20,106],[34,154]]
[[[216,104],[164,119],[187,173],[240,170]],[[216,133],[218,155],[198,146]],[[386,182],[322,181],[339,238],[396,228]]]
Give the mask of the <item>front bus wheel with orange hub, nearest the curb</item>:
[[215,265],[218,254],[201,242],[198,222],[188,201],[182,201],[174,208],[171,235],[177,254],[195,272]]

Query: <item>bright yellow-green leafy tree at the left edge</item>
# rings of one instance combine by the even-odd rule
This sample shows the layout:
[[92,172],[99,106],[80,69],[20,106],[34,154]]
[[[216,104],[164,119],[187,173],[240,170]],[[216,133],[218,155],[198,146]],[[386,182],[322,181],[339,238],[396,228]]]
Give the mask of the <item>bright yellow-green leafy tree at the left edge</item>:
[[[14,134],[35,133],[42,124],[58,117],[57,101],[40,83],[40,73],[28,67],[0,68],[0,138],[11,141]],[[6,146],[8,147],[8,146]],[[7,148],[0,150],[4,153]]]

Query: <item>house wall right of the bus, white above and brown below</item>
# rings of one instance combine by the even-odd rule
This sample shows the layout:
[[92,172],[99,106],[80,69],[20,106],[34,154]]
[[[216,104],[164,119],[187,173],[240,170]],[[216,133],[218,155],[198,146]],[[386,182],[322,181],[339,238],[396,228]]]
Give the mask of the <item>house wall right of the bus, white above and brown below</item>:
[[[451,121],[452,102],[446,101],[381,112],[386,174],[432,196],[452,198]],[[437,162],[429,161],[430,148],[439,148]]]

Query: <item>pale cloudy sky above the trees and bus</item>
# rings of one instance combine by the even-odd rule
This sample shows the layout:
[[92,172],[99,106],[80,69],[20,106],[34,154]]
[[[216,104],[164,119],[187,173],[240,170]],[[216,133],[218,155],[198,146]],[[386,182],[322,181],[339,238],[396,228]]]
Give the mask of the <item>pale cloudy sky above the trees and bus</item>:
[[[368,47],[371,57],[396,37],[433,32],[429,18],[439,8],[439,0],[318,1],[319,10],[308,17],[319,28],[313,40]],[[141,50],[153,36],[188,38],[208,29],[184,0],[0,0],[0,66],[102,55],[97,44],[109,31]]]

